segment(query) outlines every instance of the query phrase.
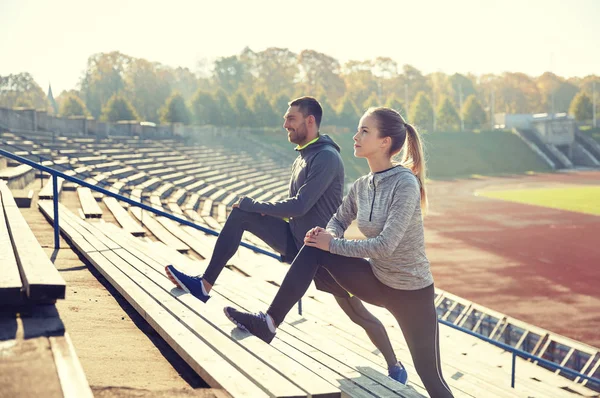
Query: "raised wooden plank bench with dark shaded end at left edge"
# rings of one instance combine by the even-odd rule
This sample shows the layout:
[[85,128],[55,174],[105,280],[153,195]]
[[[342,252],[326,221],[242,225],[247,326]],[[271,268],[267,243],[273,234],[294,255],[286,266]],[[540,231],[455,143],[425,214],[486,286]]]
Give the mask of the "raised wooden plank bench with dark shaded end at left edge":
[[1,181],[0,197],[0,305],[64,299],[64,279]]

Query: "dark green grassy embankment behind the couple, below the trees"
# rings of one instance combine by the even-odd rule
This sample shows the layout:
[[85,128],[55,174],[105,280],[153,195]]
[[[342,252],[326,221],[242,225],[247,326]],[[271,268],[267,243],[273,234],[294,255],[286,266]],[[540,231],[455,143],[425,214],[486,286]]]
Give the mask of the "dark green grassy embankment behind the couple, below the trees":
[[[253,134],[259,134],[261,141],[275,144],[281,150],[290,151],[293,148],[283,131]],[[354,133],[329,135],[342,148],[347,182],[352,182],[369,172],[366,160],[354,157]],[[544,161],[510,131],[438,132],[424,134],[423,141],[428,176],[431,179],[551,171]]]

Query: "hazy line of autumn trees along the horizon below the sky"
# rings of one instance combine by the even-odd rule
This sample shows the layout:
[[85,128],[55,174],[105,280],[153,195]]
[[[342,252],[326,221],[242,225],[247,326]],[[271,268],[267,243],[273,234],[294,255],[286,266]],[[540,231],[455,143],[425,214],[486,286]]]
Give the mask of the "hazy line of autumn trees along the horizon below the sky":
[[90,56],[77,87],[55,100],[28,73],[0,76],[0,106],[108,121],[267,127],[282,123],[290,99],[313,95],[327,125],[354,128],[366,108],[385,105],[422,129],[453,131],[486,128],[492,112],[569,112],[589,120],[595,82],[600,90],[595,75],[423,74],[391,58],[341,64],[286,48],[245,48],[195,71],[110,52]]

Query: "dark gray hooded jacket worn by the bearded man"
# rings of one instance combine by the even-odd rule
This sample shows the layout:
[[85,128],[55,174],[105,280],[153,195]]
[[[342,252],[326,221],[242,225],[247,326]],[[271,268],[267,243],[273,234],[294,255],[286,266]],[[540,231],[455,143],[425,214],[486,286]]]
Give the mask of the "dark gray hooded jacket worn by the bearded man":
[[[302,149],[292,165],[289,197],[277,202],[243,198],[240,209],[279,218],[289,218],[296,245],[316,226],[324,228],[342,203],[344,163],[340,147],[327,135]],[[290,259],[291,260],[291,259]]]

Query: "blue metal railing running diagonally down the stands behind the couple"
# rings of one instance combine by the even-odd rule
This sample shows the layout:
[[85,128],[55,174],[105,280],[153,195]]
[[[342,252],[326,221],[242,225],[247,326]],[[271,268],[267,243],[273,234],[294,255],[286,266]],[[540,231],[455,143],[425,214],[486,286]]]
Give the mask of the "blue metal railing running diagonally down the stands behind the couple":
[[[145,205],[145,204],[143,204],[141,202],[137,202],[135,200],[129,199],[129,198],[125,197],[125,196],[116,194],[116,193],[111,192],[109,190],[106,190],[104,188],[97,187],[95,185],[92,185],[90,183],[85,182],[84,180],[80,180],[79,178],[69,176],[67,174],[64,174],[63,172],[60,172],[58,170],[54,170],[54,169],[52,169],[50,167],[47,167],[47,166],[43,166],[43,165],[38,164],[36,162],[33,162],[33,161],[31,161],[31,160],[29,160],[27,158],[15,155],[15,154],[13,154],[11,152],[8,152],[8,151],[5,151],[3,149],[0,149],[0,155],[5,156],[5,157],[10,158],[10,159],[13,159],[13,160],[16,160],[18,162],[27,164],[27,165],[35,168],[35,169],[38,169],[38,170],[41,170],[43,172],[49,173],[52,176],[53,196],[54,196],[53,197],[53,202],[54,202],[54,247],[56,249],[59,248],[59,243],[60,243],[59,242],[59,232],[60,232],[60,229],[59,229],[59,220],[58,220],[58,177],[63,178],[65,180],[67,180],[67,181],[79,184],[81,186],[90,188],[91,190],[94,190],[96,192],[100,192],[100,193],[102,193],[104,195],[111,196],[111,197],[113,197],[115,199],[118,199],[118,200],[121,200],[123,202],[126,202],[126,203],[128,203],[128,204],[130,204],[132,206],[137,206],[137,207],[140,207],[140,208],[142,208],[144,210],[147,210],[149,212],[157,214],[159,216],[166,217],[166,218],[168,218],[170,220],[173,220],[173,221],[176,221],[176,222],[178,222],[180,224],[196,228],[196,229],[198,229],[198,230],[200,230],[200,231],[202,231],[204,233],[207,233],[207,234],[210,234],[210,235],[214,235],[214,236],[218,236],[219,235],[218,232],[213,231],[213,230],[208,229],[208,228],[205,228],[205,227],[202,227],[202,226],[200,226],[198,224],[195,224],[195,223],[193,223],[193,222],[191,222],[191,221],[189,221],[187,219],[183,219],[183,218],[177,217],[177,216],[175,216],[173,214],[164,212],[162,210],[155,209],[154,207],[151,207],[151,206]],[[250,244],[247,244],[245,242],[241,242],[241,246],[247,247],[247,248],[249,248],[249,249],[251,249],[251,250],[253,250],[253,251],[257,252],[257,253],[261,253],[261,254],[264,254],[264,255],[276,258],[278,260],[281,259],[281,256],[279,254],[271,253],[271,252],[269,252],[267,250],[261,249],[259,247],[256,247],[256,246],[253,246],[253,245],[250,245]],[[302,302],[301,301],[298,302],[298,312],[300,314],[302,314]],[[461,326],[457,326],[457,325],[455,325],[455,324],[453,324],[451,322],[448,322],[448,321],[445,321],[445,320],[441,320],[441,319],[439,319],[439,322],[441,324],[443,324],[443,325],[446,325],[446,326],[451,327],[453,329],[459,330],[459,331],[461,331],[463,333],[466,333],[468,335],[477,337],[477,338],[479,338],[479,339],[481,339],[483,341],[486,341],[486,342],[488,342],[490,344],[493,344],[493,345],[495,345],[497,347],[500,347],[500,348],[502,348],[502,349],[504,349],[504,350],[506,350],[508,352],[511,352],[512,353],[512,370],[511,370],[511,384],[510,385],[511,385],[512,388],[515,387],[516,358],[517,357],[521,357],[521,358],[525,358],[525,359],[530,359],[530,360],[533,360],[533,361],[537,361],[540,364],[543,364],[545,366],[549,366],[549,367],[551,367],[553,369],[559,370],[560,372],[564,372],[565,374],[568,374],[568,375],[570,375],[572,377],[577,377],[577,378],[580,378],[582,380],[587,380],[589,382],[596,383],[597,385],[600,386],[600,379],[597,379],[597,378],[594,378],[594,377],[591,377],[591,376],[586,376],[583,373],[576,372],[576,371],[574,371],[572,369],[569,369],[567,367],[558,365],[558,364],[556,364],[554,362],[551,362],[551,361],[549,361],[547,359],[538,357],[536,355],[532,355],[532,354],[530,354],[530,353],[528,353],[526,351],[523,351],[523,350],[520,350],[518,348],[512,347],[512,346],[510,346],[508,344],[505,344],[505,343],[502,343],[502,342],[490,339],[489,337],[486,337],[486,336],[484,336],[482,334],[479,334],[477,332],[474,332],[472,330],[465,329],[465,328],[463,328]]]

